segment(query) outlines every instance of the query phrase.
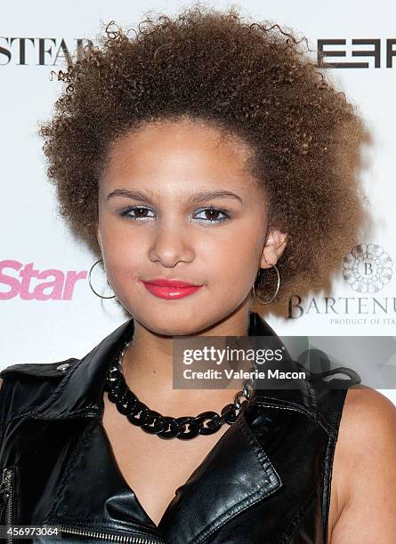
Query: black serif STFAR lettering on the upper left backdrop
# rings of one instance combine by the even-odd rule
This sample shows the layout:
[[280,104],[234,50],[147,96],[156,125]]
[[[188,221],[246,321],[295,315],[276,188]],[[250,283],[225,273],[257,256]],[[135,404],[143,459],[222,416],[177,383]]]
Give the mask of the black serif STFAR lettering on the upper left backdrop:
[[0,36],[0,66],[56,66],[71,64],[72,54],[77,60],[84,56],[84,48],[93,42],[87,38],[4,37]]

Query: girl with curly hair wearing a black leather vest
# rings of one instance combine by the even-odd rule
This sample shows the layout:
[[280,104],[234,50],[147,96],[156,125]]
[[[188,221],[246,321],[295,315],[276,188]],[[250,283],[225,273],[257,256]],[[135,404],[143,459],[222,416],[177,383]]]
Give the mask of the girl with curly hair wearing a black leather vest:
[[254,306],[325,288],[359,239],[352,105],[303,42],[234,9],[109,26],[58,76],[49,177],[128,319],[81,360],[1,372],[1,524],[36,542],[396,541],[396,410],[376,390],[173,387],[174,338],[284,348]]

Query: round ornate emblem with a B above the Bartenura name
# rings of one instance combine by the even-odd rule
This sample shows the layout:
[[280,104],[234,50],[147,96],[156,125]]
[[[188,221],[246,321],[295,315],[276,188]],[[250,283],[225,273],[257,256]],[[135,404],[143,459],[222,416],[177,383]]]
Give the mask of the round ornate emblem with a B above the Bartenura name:
[[391,278],[392,258],[378,244],[359,244],[343,258],[343,279],[353,291],[381,291]]

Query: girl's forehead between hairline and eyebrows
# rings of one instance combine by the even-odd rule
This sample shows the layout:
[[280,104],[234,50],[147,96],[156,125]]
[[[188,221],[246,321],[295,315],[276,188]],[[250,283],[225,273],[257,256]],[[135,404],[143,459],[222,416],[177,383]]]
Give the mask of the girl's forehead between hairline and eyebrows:
[[252,155],[243,140],[208,124],[190,120],[144,124],[113,142],[103,180],[246,184],[252,180],[246,167]]

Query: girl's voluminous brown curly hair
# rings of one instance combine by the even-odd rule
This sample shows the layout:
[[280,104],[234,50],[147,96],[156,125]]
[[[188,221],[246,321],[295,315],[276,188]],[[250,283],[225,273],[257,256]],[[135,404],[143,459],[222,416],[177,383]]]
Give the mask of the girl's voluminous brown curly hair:
[[[127,31],[111,21],[99,45],[56,73],[64,88],[40,134],[61,216],[101,256],[93,196],[110,144],[141,124],[190,116],[254,149],[269,227],[288,239],[276,301],[328,289],[368,219],[360,149],[369,139],[356,108],[291,30],[246,21],[235,7],[150,13]],[[277,276],[262,273],[255,292],[268,300]]]

